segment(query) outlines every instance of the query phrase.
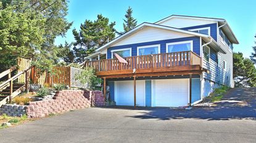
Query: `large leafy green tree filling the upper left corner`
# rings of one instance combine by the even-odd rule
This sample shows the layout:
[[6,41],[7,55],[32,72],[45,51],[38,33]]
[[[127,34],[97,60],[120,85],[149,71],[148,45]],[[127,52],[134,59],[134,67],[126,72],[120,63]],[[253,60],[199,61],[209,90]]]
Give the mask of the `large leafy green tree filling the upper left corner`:
[[67,7],[67,0],[0,0],[1,68],[14,66],[21,56],[35,58],[42,72],[50,70],[61,52],[54,40],[72,25],[65,18]]

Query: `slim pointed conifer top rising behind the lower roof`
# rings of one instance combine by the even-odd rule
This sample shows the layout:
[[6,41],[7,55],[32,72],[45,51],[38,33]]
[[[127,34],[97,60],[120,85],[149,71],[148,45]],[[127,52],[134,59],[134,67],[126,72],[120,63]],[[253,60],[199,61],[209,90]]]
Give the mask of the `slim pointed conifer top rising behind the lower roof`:
[[137,20],[132,16],[133,14],[133,9],[131,9],[131,7],[128,7],[128,10],[126,10],[126,15],[125,18],[123,19],[124,23],[123,23],[123,32],[120,32],[118,34],[122,35],[128,31],[130,31],[131,29],[133,29],[134,27],[136,27],[137,25]]

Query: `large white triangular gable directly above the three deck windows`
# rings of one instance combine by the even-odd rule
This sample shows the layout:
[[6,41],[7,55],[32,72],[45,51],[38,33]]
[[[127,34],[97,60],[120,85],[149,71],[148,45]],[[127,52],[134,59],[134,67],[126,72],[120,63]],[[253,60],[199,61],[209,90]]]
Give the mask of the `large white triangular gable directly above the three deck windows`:
[[128,45],[128,44],[136,44],[141,42],[151,42],[151,41],[162,41],[165,39],[176,39],[181,37],[191,37],[191,34],[184,34],[175,31],[170,31],[167,29],[161,28],[153,28],[147,26],[140,31],[131,34],[130,36],[122,39],[121,41],[115,43],[112,46],[118,45]]

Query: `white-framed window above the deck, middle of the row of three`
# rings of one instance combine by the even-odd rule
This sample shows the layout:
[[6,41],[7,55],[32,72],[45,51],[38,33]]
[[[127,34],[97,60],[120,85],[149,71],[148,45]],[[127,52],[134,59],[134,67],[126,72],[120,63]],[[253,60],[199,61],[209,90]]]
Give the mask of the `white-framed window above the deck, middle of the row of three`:
[[137,55],[152,55],[160,53],[160,45],[147,45],[137,48]]

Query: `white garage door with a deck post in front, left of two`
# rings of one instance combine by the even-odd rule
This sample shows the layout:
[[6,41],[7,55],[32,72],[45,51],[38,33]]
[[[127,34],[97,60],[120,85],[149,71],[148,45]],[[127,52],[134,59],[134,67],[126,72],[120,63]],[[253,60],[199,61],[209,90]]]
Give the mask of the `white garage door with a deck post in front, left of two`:
[[[115,81],[114,89],[117,106],[134,106],[133,80]],[[145,80],[136,80],[136,104],[145,106]]]

